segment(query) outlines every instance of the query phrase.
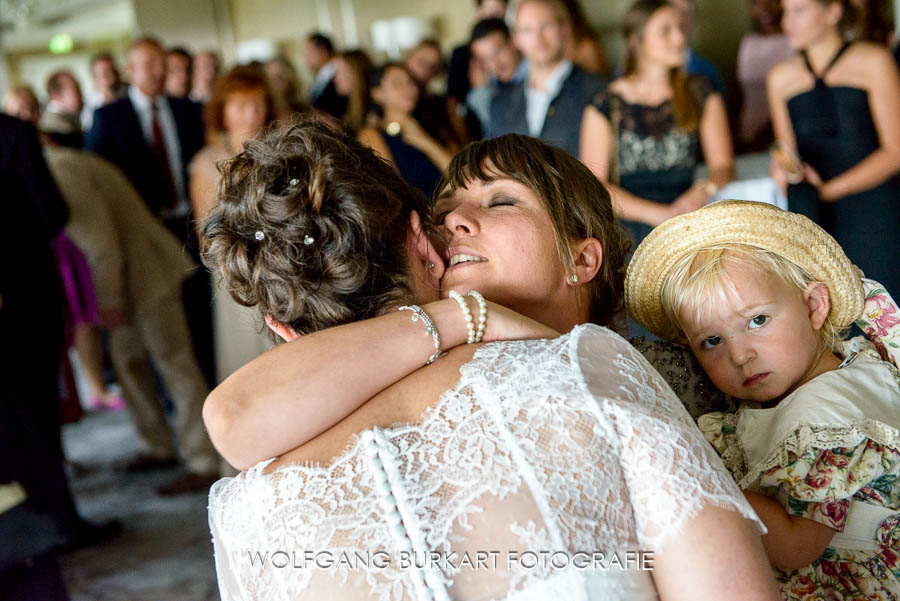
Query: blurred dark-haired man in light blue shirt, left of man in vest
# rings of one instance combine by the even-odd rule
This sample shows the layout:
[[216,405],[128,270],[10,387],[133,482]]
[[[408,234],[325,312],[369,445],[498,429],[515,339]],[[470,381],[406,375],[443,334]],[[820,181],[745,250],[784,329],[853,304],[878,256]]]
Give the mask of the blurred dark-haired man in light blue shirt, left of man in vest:
[[473,60],[484,72],[484,82],[473,87],[466,96],[466,106],[475,113],[481,131],[490,131],[491,102],[503,86],[525,80],[528,65],[512,42],[503,19],[484,19],[472,29],[469,42]]

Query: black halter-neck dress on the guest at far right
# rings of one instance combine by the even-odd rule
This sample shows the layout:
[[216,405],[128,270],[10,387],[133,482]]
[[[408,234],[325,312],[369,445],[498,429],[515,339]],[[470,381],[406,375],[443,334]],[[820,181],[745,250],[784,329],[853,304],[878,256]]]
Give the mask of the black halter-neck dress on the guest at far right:
[[[838,51],[821,74],[813,71],[804,53],[806,66],[816,79],[815,86],[787,102],[797,151],[825,181],[855,167],[880,146],[868,92],[849,86],[831,87],[823,81],[849,45]],[[802,202],[802,191],[794,186],[788,189],[788,208],[816,221],[835,237],[866,277],[898,294],[900,176],[831,203],[810,206]]]

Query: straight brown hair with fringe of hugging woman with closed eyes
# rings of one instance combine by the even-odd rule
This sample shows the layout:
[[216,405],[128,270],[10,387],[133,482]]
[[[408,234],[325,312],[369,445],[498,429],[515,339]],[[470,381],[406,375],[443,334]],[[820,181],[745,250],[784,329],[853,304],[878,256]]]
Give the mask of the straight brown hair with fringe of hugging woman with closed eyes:
[[510,179],[534,192],[553,223],[556,248],[567,273],[575,272],[571,243],[596,238],[603,263],[588,284],[591,322],[612,326],[624,307],[625,258],[631,241],[616,221],[609,191],[565,151],[520,134],[473,142],[450,162],[438,197],[469,182]]

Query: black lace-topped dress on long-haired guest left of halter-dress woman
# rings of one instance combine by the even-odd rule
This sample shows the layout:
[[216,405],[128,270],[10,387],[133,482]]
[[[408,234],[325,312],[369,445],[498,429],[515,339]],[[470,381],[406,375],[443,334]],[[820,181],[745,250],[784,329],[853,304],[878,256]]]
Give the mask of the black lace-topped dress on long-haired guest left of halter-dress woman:
[[[701,112],[715,91],[701,75],[688,77],[688,89]],[[617,178],[611,173],[614,183],[635,196],[661,204],[671,204],[691,187],[700,160],[700,132],[678,127],[670,100],[657,106],[631,104],[604,90],[594,97],[592,105],[613,128],[618,171]],[[622,223],[635,246],[653,229],[635,221]]]

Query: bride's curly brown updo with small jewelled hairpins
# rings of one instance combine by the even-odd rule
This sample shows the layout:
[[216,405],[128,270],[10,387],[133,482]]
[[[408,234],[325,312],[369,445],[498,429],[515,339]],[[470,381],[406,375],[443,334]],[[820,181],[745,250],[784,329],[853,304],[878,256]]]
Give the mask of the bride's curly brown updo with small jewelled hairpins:
[[203,262],[238,303],[306,334],[410,298],[409,214],[427,201],[371,149],[307,117],[219,169]]

